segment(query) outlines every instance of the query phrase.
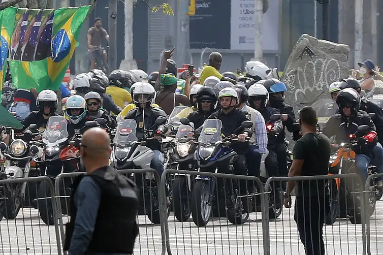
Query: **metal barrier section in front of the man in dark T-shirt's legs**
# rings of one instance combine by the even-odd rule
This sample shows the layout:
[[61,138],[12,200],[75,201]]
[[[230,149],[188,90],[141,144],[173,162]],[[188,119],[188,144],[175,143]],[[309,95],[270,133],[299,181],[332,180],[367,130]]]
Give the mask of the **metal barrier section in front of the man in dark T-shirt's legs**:
[[[281,221],[279,219],[267,219],[269,225],[266,232],[269,234],[264,235],[264,241],[269,244],[270,249],[267,252],[265,251],[265,254],[304,254],[302,242],[308,244],[307,240],[309,238],[312,238],[316,244],[320,242],[315,226],[319,225],[321,220],[324,223],[324,246],[318,245],[312,249],[317,252],[324,248],[325,253],[323,254],[366,254],[365,192],[363,182],[358,174],[270,177],[265,186],[266,204],[269,204],[270,201],[271,184],[275,182],[282,184],[282,182],[287,181],[296,181],[296,188],[302,183],[306,186],[308,184],[309,189],[302,189],[302,197],[304,198],[292,198],[291,209],[286,209],[283,206],[279,218]],[[340,192],[338,192],[337,184],[339,184]],[[310,192],[311,185],[313,190],[316,191],[314,194]],[[362,190],[358,189],[358,187],[361,187]],[[328,194],[327,190],[330,190],[330,194]],[[297,192],[297,189],[295,191]],[[325,194],[328,195],[325,196]],[[347,199],[345,199],[346,194],[348,194]],[[352,206],[354,203],[360,203],[359,208],[361,209],[358,212]],[[330,206],[326,206],[326,204],[330,204]],[[327,216],[326,218],[328,212],[332,212],[333,217]],[[347,216],[347,212],[348,215],[360,215],[360,217]],[[296,221],[297,214],[300,215],[298,223]],[[354,220],[358,224],[350,222],[355,222]],[[297,225],[299,225],[302,233],[306,233],[305,240],[300,239]],[[314,253],[313,251],[308,252],[309,254]]]

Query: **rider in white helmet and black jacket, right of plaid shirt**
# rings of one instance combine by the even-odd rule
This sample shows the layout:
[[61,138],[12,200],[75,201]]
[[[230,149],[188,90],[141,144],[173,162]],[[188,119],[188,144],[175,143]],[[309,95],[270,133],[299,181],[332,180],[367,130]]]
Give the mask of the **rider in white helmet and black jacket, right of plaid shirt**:
[[[269,92],[263,85],[258,83],[251,85],[248,89],[248,93],[249,93],[248,103],[250,107],[258,110],[262,114],[266,123],[269,123],[271,115],[280,114],[278,109],[267,106],[270,96],[269,96]],[[282,131],[283,131],[283,124],[280,119],[270,123],[270,130],[267,129],[267,132],[268,132],[267,149],[269,150],[269,154],[265,159],[265,167],[269,176],[279,176],[278,159],[277,159],[277,153],[275,151],[275,147],[277,144],[278,136]],[[280,183],[276,182],[275,189],[274,189],[275,195],[279,189],[280,189]],[[277,199],[276,202],[279,203],[279,204],[276,204],[276,208],[280,208],[279,199]]]

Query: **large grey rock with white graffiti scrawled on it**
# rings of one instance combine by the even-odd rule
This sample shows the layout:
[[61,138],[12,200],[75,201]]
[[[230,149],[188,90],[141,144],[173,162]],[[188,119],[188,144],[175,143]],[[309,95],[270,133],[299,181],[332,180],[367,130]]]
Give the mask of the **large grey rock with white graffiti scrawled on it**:
[[297,113],[305,105],[330,98],[329,85],[348,76],[348,53],[348,45],[302,35],[283,70],[286,103]]

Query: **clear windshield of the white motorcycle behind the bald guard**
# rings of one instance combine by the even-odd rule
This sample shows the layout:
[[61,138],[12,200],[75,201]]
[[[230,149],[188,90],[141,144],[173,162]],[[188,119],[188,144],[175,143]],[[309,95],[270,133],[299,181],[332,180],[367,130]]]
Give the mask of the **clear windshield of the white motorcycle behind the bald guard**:
[[118,122],[113,143],[124,146],[138,140],[136,136],[137,122],[134,119],[122,119]]

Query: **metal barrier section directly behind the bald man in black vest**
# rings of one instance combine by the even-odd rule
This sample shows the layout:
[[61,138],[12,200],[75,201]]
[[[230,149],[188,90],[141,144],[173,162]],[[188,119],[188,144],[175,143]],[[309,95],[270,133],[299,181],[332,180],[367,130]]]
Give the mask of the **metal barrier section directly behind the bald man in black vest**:
[[[131,174],[135,174],[134,181],[136,183],[145,182],[144,174],[152,174],[154,177],[154,181],[156,185],[151,186],[152,182],[148,182],[147,190],[144,193],[143,189],[140,190],[140,201],[143,205],[141,207],[141,211],[149,211],[148,216],[142,215],[143,212],[139,213],[137,216],[137,224],[139,225],[139,236],[136,238],[134,254],[162,254],[166,253],[165,246],[165,226],[164,226],[164,203],[166,203],[166,196],[163,195],[165,192],[164,188],[157,189],[156,187],[161,187],[161,178],[158,173],[154,169],[126,169],[126,170],[117,170],[121,174],[131,177]],[[75,177],[86,174],[85,172],[80,173],[62,173],[59,174],[55,181],[55,192],[57,196],[57,218],[59,220],[59,228],[61,232],[61,240],[62,243],[65,241],[65,224],[69,221],[69,217],[66,212],[69,212],[69,200],[65,198],[59,198],[62,196],[63,190],[69,191],[71,184]],[[155,187],[156,186],[156,187]],[[149,190],[149,191],[148,191]],[[156,200],[156,190],[158,190],[158,201]],[[66,194],[68,195],[68,194]],[[155,205],[156,208],[149,206]],[[158,206],[157,206],[158,205]],[[158,209],[157,209],[158,207]],[[62,212],[65,212],[67,216],[63,216]],[[159,212],[159,215],[156,213]],[[153,224],[149,217],[153,219],[153,221],[157,222]],[[155,219],[155,220],[154,220]],[[159,235],[161,233],[161,235]],[[64,252],[66,254],[66,252]]]

